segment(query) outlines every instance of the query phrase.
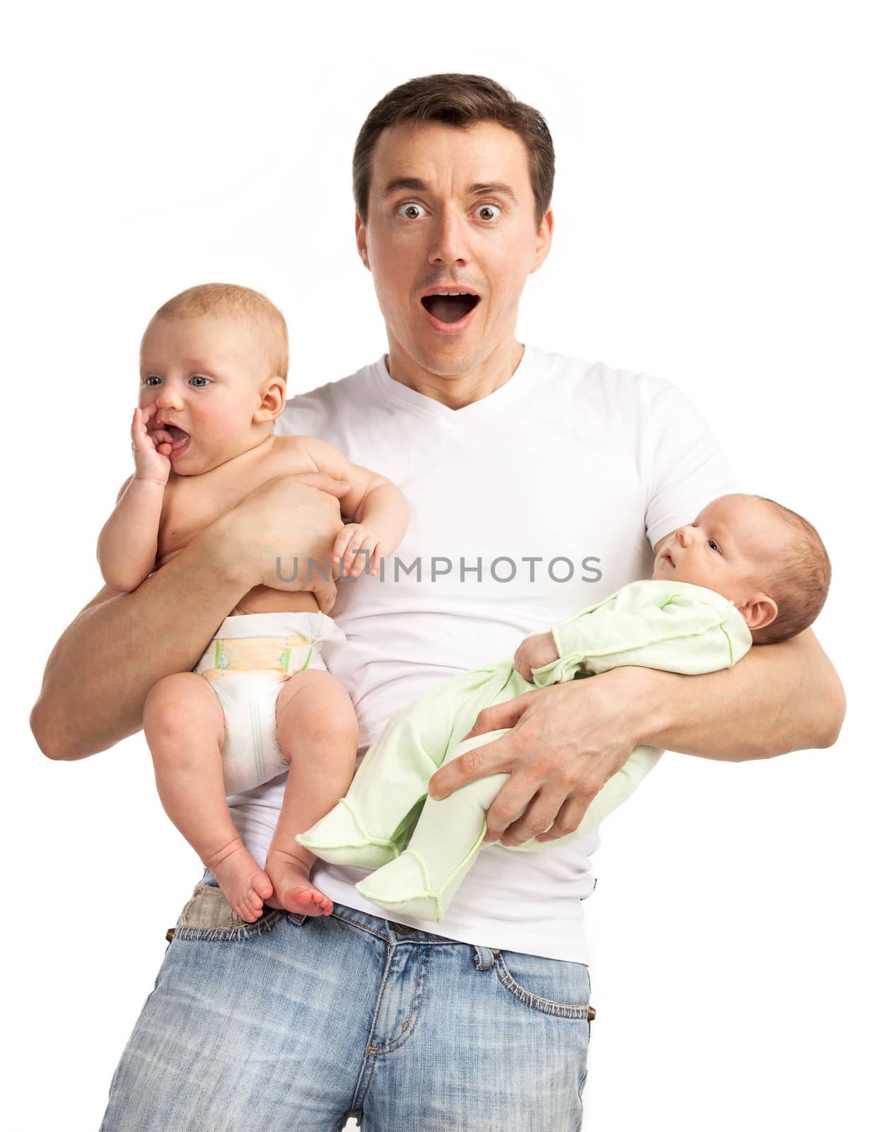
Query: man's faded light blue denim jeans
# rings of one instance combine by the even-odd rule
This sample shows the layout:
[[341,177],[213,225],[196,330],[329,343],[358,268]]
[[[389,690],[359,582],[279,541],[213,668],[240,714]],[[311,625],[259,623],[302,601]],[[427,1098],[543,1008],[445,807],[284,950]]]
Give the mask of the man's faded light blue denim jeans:
[[582,963],[343,904],[244,924],[205,881],[112,1079],[103,1132],[334,1132],[349,1116],[364,1132],[580,1129]]

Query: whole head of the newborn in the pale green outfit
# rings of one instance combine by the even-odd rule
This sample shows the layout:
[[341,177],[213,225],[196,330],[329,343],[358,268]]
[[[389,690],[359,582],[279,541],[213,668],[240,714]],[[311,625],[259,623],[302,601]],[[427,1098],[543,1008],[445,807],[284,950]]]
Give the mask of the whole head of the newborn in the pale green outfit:
[[818,616],[830,561],[820,535],[801,515],[761,496],[732,495],[679,528],[657,554],[653,576],[728,598],[754,644],[772,644],[801,633]]

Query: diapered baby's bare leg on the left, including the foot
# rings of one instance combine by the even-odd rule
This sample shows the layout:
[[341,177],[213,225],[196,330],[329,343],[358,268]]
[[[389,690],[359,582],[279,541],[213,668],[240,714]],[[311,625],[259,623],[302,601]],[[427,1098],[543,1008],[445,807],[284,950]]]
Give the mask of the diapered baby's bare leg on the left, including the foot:
[[171,821],[215,874],[233,910],[249,924],[273,885],[240,840],[224,794],[224,713],[208,680],[196,672],[165,676],[143,711],[157,792]]

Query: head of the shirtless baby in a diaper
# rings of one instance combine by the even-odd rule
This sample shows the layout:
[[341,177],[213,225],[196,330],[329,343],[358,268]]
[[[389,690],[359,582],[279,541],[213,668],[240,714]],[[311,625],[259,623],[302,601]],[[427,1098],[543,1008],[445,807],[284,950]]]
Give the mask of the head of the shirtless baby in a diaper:
[[249,288],[206,283],[170,299],[139,351],[139,408],[173,436],[173,471],[198,475],[256,447],[285,405],[287,328]]

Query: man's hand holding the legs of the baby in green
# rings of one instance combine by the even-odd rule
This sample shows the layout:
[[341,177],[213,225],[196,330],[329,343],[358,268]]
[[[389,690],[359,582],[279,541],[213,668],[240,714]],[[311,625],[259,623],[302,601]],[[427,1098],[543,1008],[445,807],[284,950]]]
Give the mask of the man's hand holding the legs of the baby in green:
[[485,774],[509,773],[487,811],[485,841],[519,846],[572,833],[639,743],[633,728],[641,721],[633,705],[645,674],[616,668],[485,707],[464,738],[507,727],[511,731],[437,771],[431,797],[444,798]]

